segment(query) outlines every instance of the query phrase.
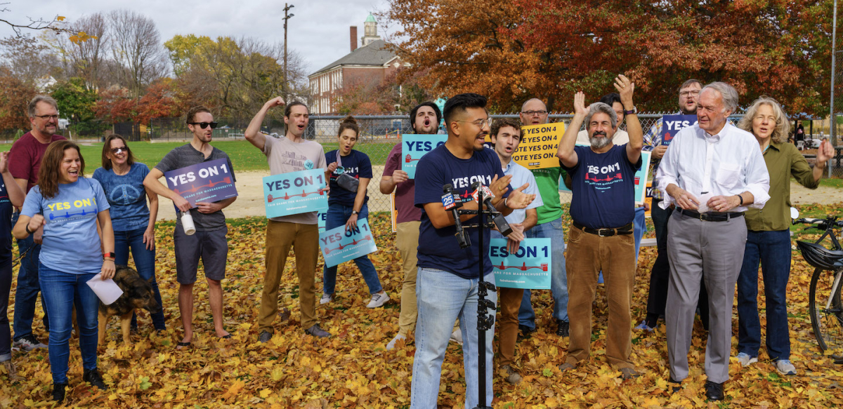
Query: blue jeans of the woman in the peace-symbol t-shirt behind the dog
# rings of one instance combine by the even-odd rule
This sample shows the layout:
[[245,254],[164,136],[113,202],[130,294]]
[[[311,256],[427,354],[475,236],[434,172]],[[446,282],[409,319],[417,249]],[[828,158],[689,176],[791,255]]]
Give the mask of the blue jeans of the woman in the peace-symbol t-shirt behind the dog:
[[[115,264],[128,265],[129,250],[132,250],[137,274],[153,286],[155,300],[162,308],[161,311],[150,314],[153,326],[157,330],[164,330],[166,329],[164,326],[164,304],[161,303],[161,291],[158,290],[158,282],[155,281],[155,250],[147,250],[147,245],[143,244],[143,232],[146,230],[146,227],[141,227],[130,231],[114,232]],[[135,314],[132,314],[132,328],[137,329],[137,315]]]

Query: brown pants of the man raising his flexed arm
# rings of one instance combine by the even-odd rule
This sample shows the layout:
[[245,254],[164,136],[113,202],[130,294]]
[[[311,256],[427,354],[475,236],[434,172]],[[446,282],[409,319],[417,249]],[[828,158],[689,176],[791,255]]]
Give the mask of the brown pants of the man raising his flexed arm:
[[260,295],[258,329],[274,332],[272,321],[278,313],[278,285],[293,247],[298,274],[298,305],[302,311],[302,328],[316,324],[316,261],[319,258],[319,226],[267,220],[266,275]]

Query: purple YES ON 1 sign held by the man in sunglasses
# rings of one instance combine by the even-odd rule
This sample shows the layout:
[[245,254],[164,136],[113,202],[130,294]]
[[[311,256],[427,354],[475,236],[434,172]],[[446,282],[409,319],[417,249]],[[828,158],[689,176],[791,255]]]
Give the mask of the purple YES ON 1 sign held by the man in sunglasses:
[[228,161],[216,159],[164,173],[167,186],[196,207],[196,202],[218,202],[237,196]]

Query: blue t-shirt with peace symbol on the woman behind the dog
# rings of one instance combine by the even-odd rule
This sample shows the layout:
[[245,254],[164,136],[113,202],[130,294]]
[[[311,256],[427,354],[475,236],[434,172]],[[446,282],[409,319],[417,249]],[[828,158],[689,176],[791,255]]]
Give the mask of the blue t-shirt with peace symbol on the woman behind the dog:
[[114,231],[132,231],[149,226],[149,207],[147,191],[143,189],[143,179],[149,174],[149,167],[143,163],[133,163],[129,173],[118,175],[114,169],[99,167],[94,171],[94,179],[99,181],[111,206],[111,225]]

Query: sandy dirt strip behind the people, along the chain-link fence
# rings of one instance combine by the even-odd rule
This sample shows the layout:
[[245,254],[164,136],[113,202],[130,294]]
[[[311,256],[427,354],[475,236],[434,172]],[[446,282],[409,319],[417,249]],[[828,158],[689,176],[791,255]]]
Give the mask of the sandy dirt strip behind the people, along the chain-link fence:
[[[368,185],[369,195],[369,211],[388,211],[389,210],[389,196],[381,194],[378,185],[380,183],[380,175],[384,173],[383,166],[373,167],[374,178]],[[260,216],[264,213],[263,200],[263,185],[262,178],[269,176],[269,173],[264,171],[251,171],[237,173],[237,192],[239,196],[234,205],[224,210],[225,216],[228,218],[240,218],[246,216]],[[161,178],[161,183],[164,178]],[[571,199],[569,196],[562,194],[562,202],[567,203]],[[806,203],[819,203],[821,205],[830,205],[843,201],[843,190],[820,186],[816,190],[805,189],[798,183],[791,183],[791,199],[793,204],[801,205]],[[161,201],[160,210],[158,210],[159,220],[173,220],[175,219],[175,210],[172,202],[169,199]]]

